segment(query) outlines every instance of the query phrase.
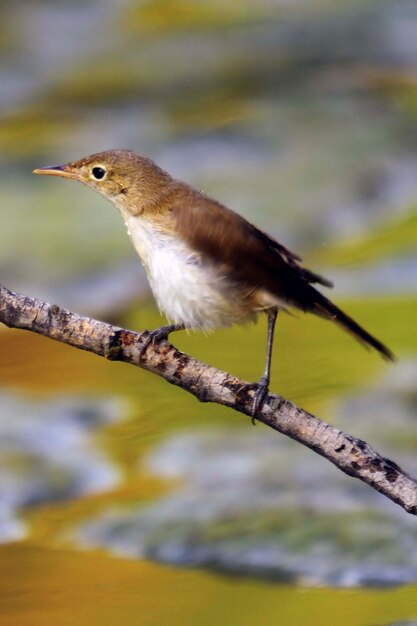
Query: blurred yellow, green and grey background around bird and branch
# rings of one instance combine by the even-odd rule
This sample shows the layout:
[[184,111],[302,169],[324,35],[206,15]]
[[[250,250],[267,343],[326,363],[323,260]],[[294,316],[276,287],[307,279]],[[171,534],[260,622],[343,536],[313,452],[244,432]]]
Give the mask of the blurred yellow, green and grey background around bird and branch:
[[[299,252],[393,349],[280,319],[272,390],[416,474],[416,3],[3,1],[0,54],[1,283],[158,326],[115,209],[31,175],[146,154]],[[265,336],[172,339],[258,380]],[[4,327],[0,381],[0,623],[416,623],[415,519],[312,452]]]

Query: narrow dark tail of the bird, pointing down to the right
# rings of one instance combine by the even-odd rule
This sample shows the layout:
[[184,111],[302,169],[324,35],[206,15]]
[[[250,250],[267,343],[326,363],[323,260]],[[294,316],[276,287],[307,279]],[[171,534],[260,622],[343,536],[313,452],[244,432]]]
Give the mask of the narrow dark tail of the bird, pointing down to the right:
[[339,307],[323,296],[322,293],[314,289],[314,287],[311,287],[311,289],[315,291],[314,303],[310,308],[312,313],[316,313],[316,315],[320,315],[320,317],[334,321],[344,330],[353,335],[355,339],[377,350],[384,357],[384,359],[395,361],[395,357],[389,348],[384,346],[383,343],[368,333],[368,331],[362,328],[362,326],[355,322],[354,319],[349,317],[349,315],[343,313]]

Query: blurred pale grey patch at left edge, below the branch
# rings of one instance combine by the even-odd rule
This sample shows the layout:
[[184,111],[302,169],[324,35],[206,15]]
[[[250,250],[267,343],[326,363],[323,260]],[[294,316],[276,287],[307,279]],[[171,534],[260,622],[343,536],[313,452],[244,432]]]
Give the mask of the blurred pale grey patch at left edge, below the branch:
[[123,415],[108,399],[0,395],[0,542],[26,534],[19,511],[111,489],[120,475],[93,433]]

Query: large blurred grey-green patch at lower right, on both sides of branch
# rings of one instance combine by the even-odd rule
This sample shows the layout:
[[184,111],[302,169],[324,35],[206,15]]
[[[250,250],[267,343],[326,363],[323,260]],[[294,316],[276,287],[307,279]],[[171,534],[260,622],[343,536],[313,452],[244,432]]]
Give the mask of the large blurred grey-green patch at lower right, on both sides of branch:
[[[395,450],[414,474],[416,382],[417,362],[405,362],[372,392],[333,409],[344,430]],[[152,505],[84,524],[83,545],[298,584],[417,581],[414,520],[294,442],[265,430],[189,432],[158,446],[148,468],[181,486]]]

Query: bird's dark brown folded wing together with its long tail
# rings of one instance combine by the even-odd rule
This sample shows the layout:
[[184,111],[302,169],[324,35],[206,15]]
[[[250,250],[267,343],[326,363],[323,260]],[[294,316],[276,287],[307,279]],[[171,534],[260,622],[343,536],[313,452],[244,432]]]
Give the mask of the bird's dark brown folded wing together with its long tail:
[[175,231],[197,252],[223,264],[237,281],[264,289],[279,301],[339,324],[387,359],[392,352],[315,289],[331,286],[299,265],[300,257],[243,217],[189,187],[176,194],[170,216]]

